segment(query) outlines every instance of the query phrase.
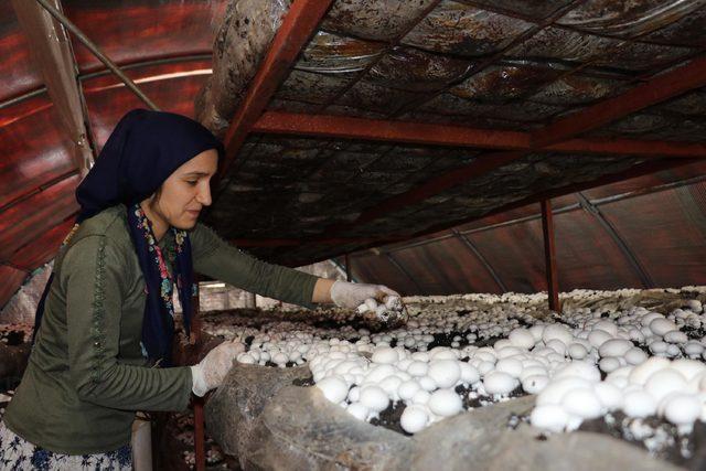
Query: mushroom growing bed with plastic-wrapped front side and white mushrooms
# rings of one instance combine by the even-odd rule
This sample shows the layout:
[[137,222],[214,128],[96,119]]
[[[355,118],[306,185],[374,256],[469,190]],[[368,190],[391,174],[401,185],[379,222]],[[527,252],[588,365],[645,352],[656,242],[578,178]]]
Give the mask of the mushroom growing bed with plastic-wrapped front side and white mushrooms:
[[[340,453],[345,465],[404,468],[395,456],[427,462],[450,433],[449,443],[486,448],[479,465],[510,467],[499,450],[523,438],[535,460],[569,463],[612,447],[595,449],[586,467],[632,457],[632,469],[697,469],[705,295],[578,290],[563,296],[560,317],[546,295],[406,298],[409,322],[389,329],[340,310],[206,317],[208,333],[243,350],[208,402],[207,425],[246,468],[295,456],[320,468],[321,457],[340,464]],[[310,433],[271,445],[285,461],[264,458],[267,437],[288,427]]]

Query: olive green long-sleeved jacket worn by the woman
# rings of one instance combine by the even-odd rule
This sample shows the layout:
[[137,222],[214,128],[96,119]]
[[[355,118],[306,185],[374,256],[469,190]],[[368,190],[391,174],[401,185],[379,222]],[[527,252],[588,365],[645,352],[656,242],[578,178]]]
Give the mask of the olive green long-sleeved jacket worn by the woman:
[[[317,278],[259,261],[197,224],[194,270],[247,291],[310,306]],[[173,235],[159,243],[173,264]],[[145,281],[122,205],[86,220],[57,255],[44,318],[3,421],[50,451],[87,454],[130,441],[136,410],[183,410],[188,366],[149,368],[140,349]]]

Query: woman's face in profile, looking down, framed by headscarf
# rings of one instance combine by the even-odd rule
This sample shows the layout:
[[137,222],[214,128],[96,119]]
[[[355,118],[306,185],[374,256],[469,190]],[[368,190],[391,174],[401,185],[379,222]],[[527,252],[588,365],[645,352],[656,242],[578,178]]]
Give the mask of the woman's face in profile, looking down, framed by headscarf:
[[179,229],[194,227],[201,210],[211,205],[210,183],[217,164],[218,152],[215,149],[201,152],[169,175],[161,191],[142,205],[158,238],[157,232],[163,233],[169,226]]

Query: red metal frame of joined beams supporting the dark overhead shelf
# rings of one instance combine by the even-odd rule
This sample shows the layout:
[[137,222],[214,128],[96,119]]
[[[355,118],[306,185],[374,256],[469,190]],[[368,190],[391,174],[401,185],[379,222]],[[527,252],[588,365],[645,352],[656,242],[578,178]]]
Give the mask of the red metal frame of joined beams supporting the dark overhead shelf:
[[[238,150],[252,132],[308,135],[325,138],[383,140],[387,142],[436,146],[468,146],[503,149],[505,151],[484,156],[460,170],[435,176],[422,183],[421,186],[392,196],[366,208],[352,223],[329,226],[321,236],[308,238],[307,240],[310,243],[340,239],[336,236],[349,227],[374,221],[389,212],[415,204],[472,178],[488,173],[505,163],[521,159],[532,151],[619,153],[632,157],[660,158],[660,160],[635,165],[633,169],[618,174],[601,176],[588,184],[567,185],[558,192],[544,192],[537,197],[532,197],[533,201],[536,200],[535,202],[550,199],[553,194],[566,194],[565,189],[593,188],[606,184],[603,182],[616,182],[656,172],[661,169],[680,167],[693,161],[693,159],[706,157],[706,147],[700,143],[633,139],[571,139],[579,133],[596,129],[631,113],[706,85],[706,57],[700,56],[696,56],[685,65],[657,75],[625,93],[559,118],[545,128],[528,133],[341,116],[266,111],[267,105],[277,87],[286,79],[291,65],[306,45],[307,40],[314,33],[331,3],[332,1],[325,0],[301,0],[291,6],[225,135],[226,158],[221,171],[222,176],[227,173],[227,169],[235,160]],[[571,2],[571,4],[574,3],[580,3],[580,1]],[[555,15],[553,14],[549,19],[546,19],[542,26],[552,24]],[[532,31],[532,33],[541,29],[533,29],[535,31]],[[471,74],[477,72],[471,71]],[[424,138],[420,139],[419,136],[424,136]],[[510,151],[507,151],[509,149]],[[531,203],[526,200],[528,199],[523,200],[521,205]],[[516,203],[512,203],[493,210],[491,213],[506,211],[516,206]],[[473,220],[475,218],[478,217]],[[456,224],[459,224],[459,222],[453,223],[453,225]],[[443,224],[443,226],[448,225]],[[411,237],[440,229],[434,226]],[[275,244],[270,246],[276,245],[276,242],[277,239],[271,239],[270,244]],[[298,245],[301,243],[302,240],[297,240]]]

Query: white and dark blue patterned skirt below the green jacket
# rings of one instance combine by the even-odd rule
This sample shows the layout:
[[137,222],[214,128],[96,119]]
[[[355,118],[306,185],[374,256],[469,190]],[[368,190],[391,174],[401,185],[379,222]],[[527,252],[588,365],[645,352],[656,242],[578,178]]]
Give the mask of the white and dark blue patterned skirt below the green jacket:
[[132,450],[129,445],[108,453],[61,454],[36,447],[17,436],[0,420],[0,470],[12,471],[129,471]]

